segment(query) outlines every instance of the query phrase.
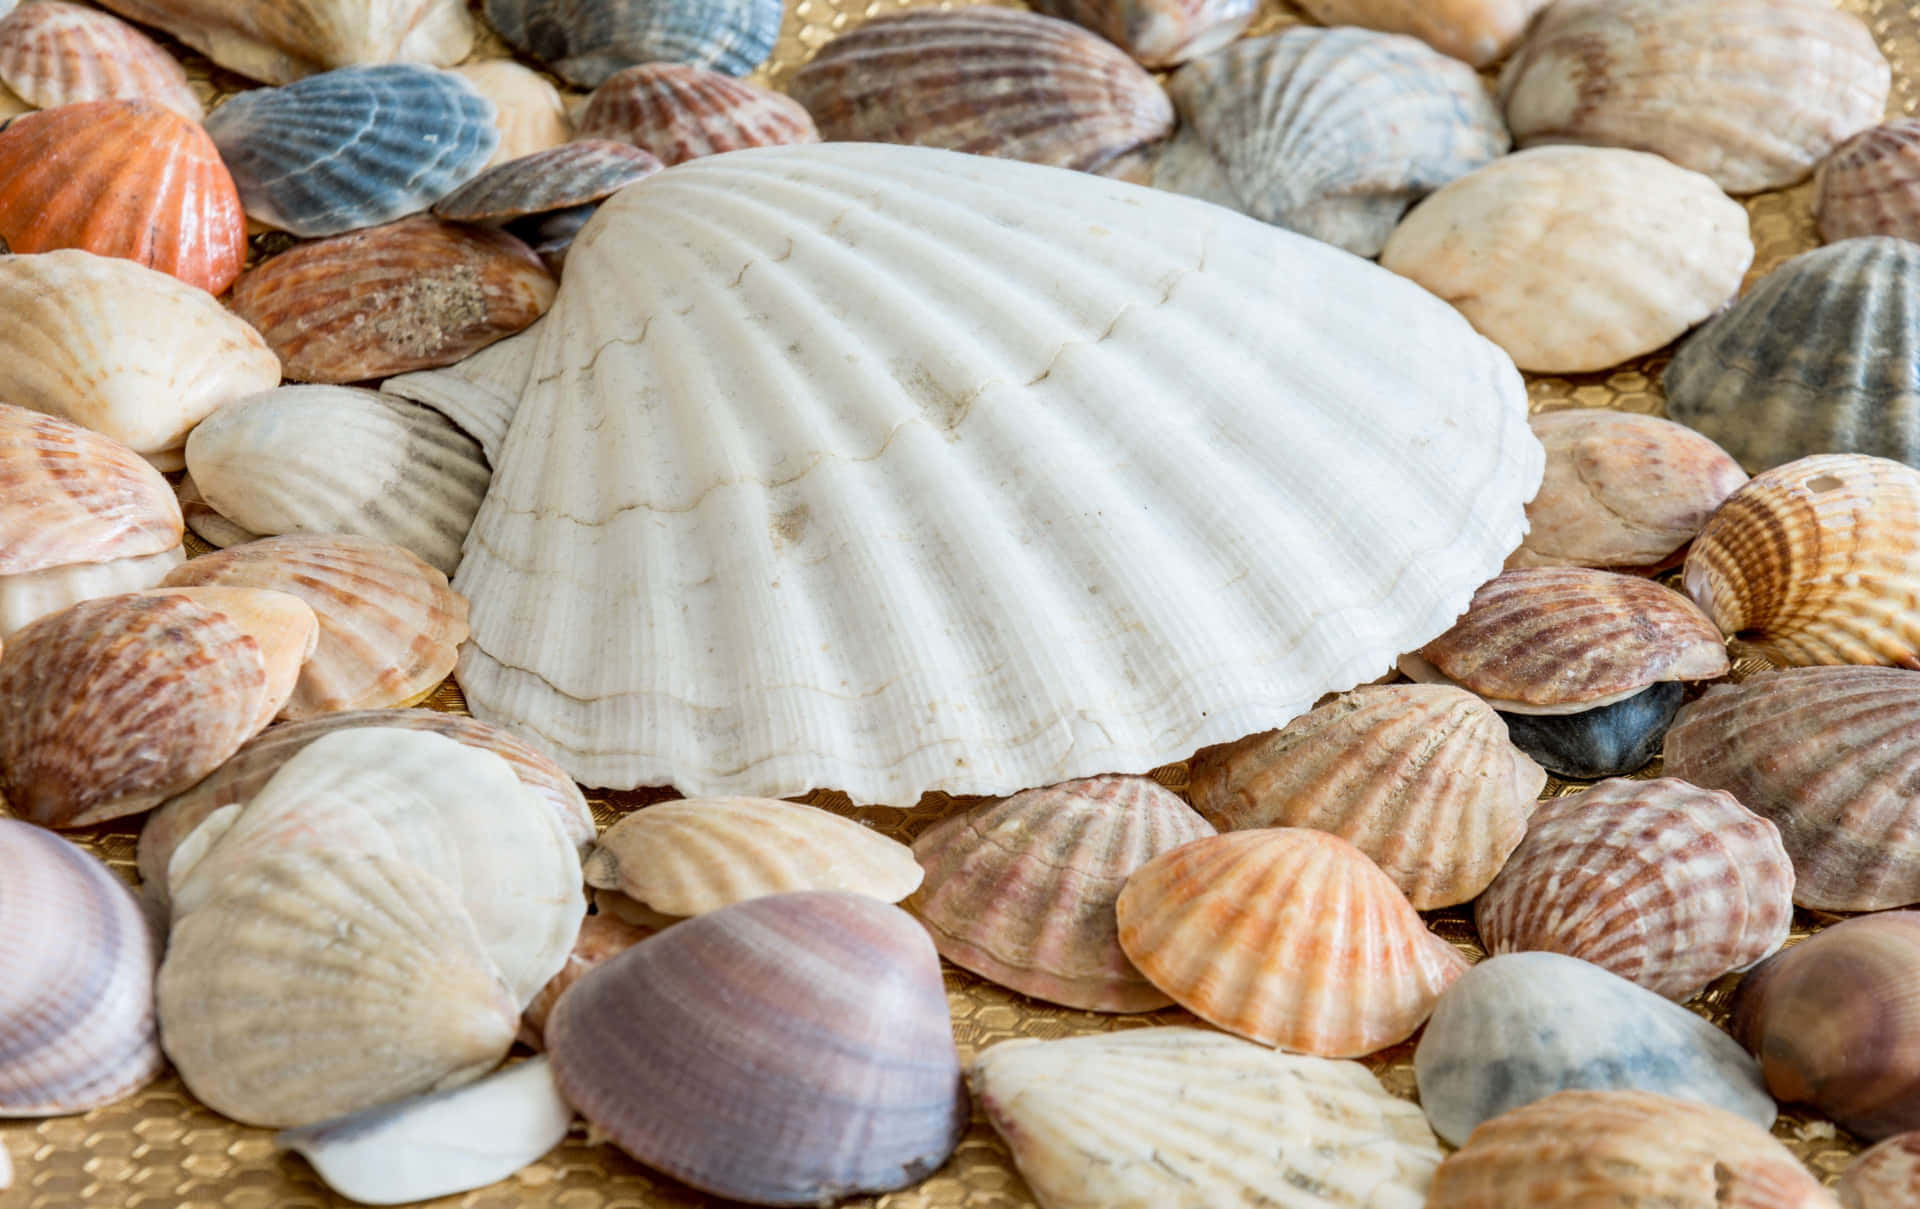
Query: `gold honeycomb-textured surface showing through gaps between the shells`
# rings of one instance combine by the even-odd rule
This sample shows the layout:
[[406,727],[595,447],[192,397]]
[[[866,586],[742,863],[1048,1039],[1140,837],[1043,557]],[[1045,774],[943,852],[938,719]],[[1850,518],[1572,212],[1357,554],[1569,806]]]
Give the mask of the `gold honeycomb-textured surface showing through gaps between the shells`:
[[[929,0],[789,0],[774,56],[755,79],[780,86],[835,33],[883,12],[925,2]],[[950,0],[937,2],[943,8],[952,6]],[[1912,0],[1841,0],[1839,8],[1866,17],[1880,46],[1893,59],[1895,88],[1889,115],[1920,115],[1920,6]],[[1300,21],[1304,17],[1286,4],[1263,0],[1254,33],[1269,33]],[[175,46],[175,50],[179,48]],[[497,38],[488,36],[476,48],[474,58],[505,58],[507,54]],[[250,86],[248,81],[211,69],[192,56],[182,54],[182,58],[188,59],[196,86],[209,102]],[[1747,202],[1757,246],[1749,284],[1789,255],[1818,244],[1811,207],[1811,184]],[[1657,353],[1605,374],[1528,376],[1532,407],[1534,411],[1619,407],[1661,415],[1665,403],[1659,376],[1667,359],[1667,355]],[[1736,677],[1751,674],[1759,666],[1763,664],[1741,660]],[[465,712],[459,691],[451,683],[444,685],[428,700],[428,706]],[[1655,770],[1649,768],[1642,775],[1655,775]],[[1175,791],[1187,787],[1185,766],[1160,770],[1156,777]],[[1559,796],[1574,789],[1578,785],[1549,781],[1542,796]],[[595,796],[593,808],[605,825],[626,810],[666,796],[672,794],[662,791]],[[945,794],[929,794],[912,810],[854,808],[843,794],[833,793],[818,793],[810,800],[858,818],[904,842],[968,804],[968,800]],[[138,819],[132,825],[106,825],[79,833],[75,839],[94,848],[129,881],[134,881],[136,823]],[[1795,938],[1803,938],[1822,921],[1822,917],[1799,912],[1793,927]],[[1432,925],[1471,956],[1484,956],[1475,940],[1467,912],[1436,913]],[[1722,979],[1695,1002],[1695,1009],[1724,1021],[1726,998],[1734,981],[1734,977]],[[947,967],[947,998],[952,1006],[954,1038],[962,1055],[972,1055],[1014,1036],[1060,1038],[1144,1025],[1196,1023],[1177,1009],[1140,1017],[1112,1017],[1050,1008],[1000,990],[952,965]],[[1411,1054],[1411,1046],[1398,1046],[1369,1059],[1380,1080],[1409,1100],[1413,1098]],[[1847,1134],[1803,1111],[1784,1111],[1774,1134],[1828,1182],[1860,1150]],[[123,1103],[83,1117],[0,1123],[0,1144],[6,1146],[15,1167],[13,1188],[0,1192],[0,1209],[69,1209],[75,1205],[98,1209],[332,1209],[351,1203],[332,1196],[303,1161],[276,1151],[269,1130],[246,1128],[207,1111],[171,1075]],[[576,1125],[568,1140],[543,1161],[501,1184],[424,1203],[463,1209],[714,1209],[726,1205],[651,1174],[611,1146],[589,1146],[584,1125]],[[1033,1203],[1006,1150],[977,1113],[960,1150],[929,1180],[883,1197],[849,1201],[856,1209],[1031,1209]]]

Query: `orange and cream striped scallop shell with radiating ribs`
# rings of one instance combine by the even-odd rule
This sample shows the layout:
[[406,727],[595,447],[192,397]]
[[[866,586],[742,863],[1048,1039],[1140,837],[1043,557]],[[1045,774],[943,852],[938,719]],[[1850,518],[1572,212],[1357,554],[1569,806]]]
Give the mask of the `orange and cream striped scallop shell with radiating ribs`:
[[1304,827],[1156,856],[1116,910],[1119,946],[1181,1008],[1300,1054],[1405,1040],[1467,969],[1359,848]]

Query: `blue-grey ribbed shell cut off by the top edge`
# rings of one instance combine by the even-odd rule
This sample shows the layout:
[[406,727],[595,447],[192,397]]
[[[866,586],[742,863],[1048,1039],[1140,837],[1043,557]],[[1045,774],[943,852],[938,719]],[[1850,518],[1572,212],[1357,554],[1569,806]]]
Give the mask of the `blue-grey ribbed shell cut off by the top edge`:
[[639,63],[747,75],[774,52],[781,0],[486,0],[503,38],[582,88]]

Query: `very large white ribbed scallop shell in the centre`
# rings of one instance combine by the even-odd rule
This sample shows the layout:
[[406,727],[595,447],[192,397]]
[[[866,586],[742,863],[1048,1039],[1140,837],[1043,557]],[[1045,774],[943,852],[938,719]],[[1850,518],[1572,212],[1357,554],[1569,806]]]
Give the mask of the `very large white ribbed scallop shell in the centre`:
[[[1279,286],[1302,274],[1311,305]],[[482,357],[405,386],[493,432],[526,399],[455,581],[468,706],[586,783],[695,796],[1004,794],[1271,727],[1444,629],[1542,457],[1507,359],[1411,284],[1188,198],[924,148],[632,184],[553,322]],[[1068,484],[1062,447],[1100,470]],[[1369,514],[1329,541],[1354,493]]]

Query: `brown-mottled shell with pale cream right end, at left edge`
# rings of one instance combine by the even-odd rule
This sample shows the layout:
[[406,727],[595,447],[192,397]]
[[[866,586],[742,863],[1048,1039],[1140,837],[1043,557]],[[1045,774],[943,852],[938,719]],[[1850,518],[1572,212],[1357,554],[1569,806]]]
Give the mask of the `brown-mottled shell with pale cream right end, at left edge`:
[[276,591],[188,587],[84,601],[0,651],[0,793],[44,827],[157,806],[267,725],[313,651]]

